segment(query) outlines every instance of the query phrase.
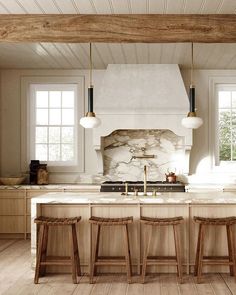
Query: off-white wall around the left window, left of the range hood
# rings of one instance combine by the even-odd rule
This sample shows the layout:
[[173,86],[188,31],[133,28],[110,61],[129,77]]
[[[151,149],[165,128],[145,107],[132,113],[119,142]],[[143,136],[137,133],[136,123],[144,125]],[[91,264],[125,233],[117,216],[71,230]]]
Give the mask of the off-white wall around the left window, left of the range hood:
[[[100,84],[103,71],[97,70],[94,73],[94,97]],[[85,77],[85,106],[87,107],[87,70],[2,70],[1,71],[1,105],[0,122],[1,133],[1,175],[18,175],[21,173],[21,77],[22,76],[76,76]],[[55,174],[51,181],[74,182],[86,181],[86,175],[97,173],[97,157],[92,144],[92,130],[85,130],[85,175],[80,179],[78,173],[67,175]]]

